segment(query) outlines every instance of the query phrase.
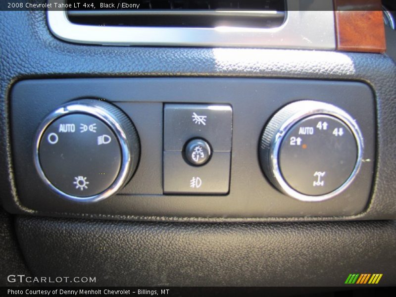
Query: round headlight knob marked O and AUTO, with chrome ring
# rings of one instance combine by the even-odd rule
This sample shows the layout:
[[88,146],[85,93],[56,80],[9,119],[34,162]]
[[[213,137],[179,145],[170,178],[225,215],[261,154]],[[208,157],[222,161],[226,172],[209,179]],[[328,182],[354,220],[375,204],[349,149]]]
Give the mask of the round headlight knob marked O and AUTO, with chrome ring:
[[38,129],[34,160],[44,182],[63,198],[95,202],[120,190],[140,157],[135,126],[120,109],[95,99],[69,102]]

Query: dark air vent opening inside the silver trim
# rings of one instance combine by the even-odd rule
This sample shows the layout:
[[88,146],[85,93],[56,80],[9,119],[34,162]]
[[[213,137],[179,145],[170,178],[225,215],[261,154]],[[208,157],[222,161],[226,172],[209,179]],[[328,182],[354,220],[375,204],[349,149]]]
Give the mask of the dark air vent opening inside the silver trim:
[[[115,1],[122,8],[123,1]],[[144,0],[138,9],[67,11],[72,23],[139,27],[275,28],[285,21],[284,0]]]

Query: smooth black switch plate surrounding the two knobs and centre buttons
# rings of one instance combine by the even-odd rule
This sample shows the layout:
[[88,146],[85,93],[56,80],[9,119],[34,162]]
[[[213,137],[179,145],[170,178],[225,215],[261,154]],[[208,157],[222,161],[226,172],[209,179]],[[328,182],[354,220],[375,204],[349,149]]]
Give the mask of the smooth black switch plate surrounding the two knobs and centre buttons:
[[[142,159],[136,170],[136,176],[121,190],[120,194],[89,205],[66,201],[49,191],[39,179],[32,158],[33,140],[43,118],[49,111],[56,109],[58,106],[82,98],[97,98],[113,102],[121,110],[124,110],[136,126],[142,151]],[[326,201],[298,201],[281,194],[266,180],[259,166],[257,151],[264,125],[280,107],[302,99],[327,102],[346,110],[356,120],[362,131],[364,142],[362,159],[364,162],[360,171],[346,191]],[[178,105],[169,105],[168,102],[178,103]],[[229,193],[225,190],[226,195],[214,196],[211,193],[205,193],[198,196],[199,192],[196,191],[198,189],[192,189],[194,191],[187,193],[189,195],[183,195],[183,193],[176,196],[163,194],[169,192],[169,188],[167,189],[166,186],[172,186],[171,181],[167,179],[170,179],[170,174],[174,174],[172,173],[173,168],[180,172],[172,180],[173,183],[178,183],[177,186],[173,187],[176,190],[191,189],[190,179],[195,175],[202,179],[202,183],[210,182],[210,178],[216,180],[225,178],[228,183],[227,172],[230,170],[230,166],[228,163],[219,162],[218,158],[226,154],[226,159],[229,159],[230,154],[216,152],[216,150],[227,149],[227,145],[222,145],[223,142],[220,142],[220,146],[217,146],[217,140],[223,133],[227,133],[227,125],[228,131],[231,128],[231,122],[224,126],[225,131],[219,127],[219,124],[216,124],[214,117],[216,110],[213,110],[212,113],[205,113],[208,115],[205,129],[211,133],[219,129],[223,132],[220,135],[215,134],[213,137],[206,135],[206,139],[214,145],[213,158],[204,167],[209,168],[209,171],[201,170],[200,168],[203,167],[183,165],[186,162],[182,159],[180,151],[175,151],[168,144],[169,140],[166,141],[166,139],[163,155],[164,166],[162,166],[164,144],[162,137],[155,136],[160,136],[164,129],[161,123],[163,103],[166,103],[165,106],[167,107],[165,108],[168,108],[168,110],[169,106],[178,106],[179,109],[177,110],[181,110],[180,108],[184,108],[184,106],[201,106],[186,103],[217,104],[211,105],[217,109],[222,106],[229,106],[230,109],[232,107],[233,128]],[[136,110],[135,104],[138,104]],[[14,86],[11,91],[10,106],[16,186],[19,189],[20,203],[25,207],[48,215],[57,213],[67,216],[68,213],[75,213],[76,215],[114,215],[115,217],[152,215],[167,218],[207,217],[208,219],[220,217],[225,219],[347,217],[361,213],[368,203],[375,163],[375,105],[371,89],[362,83],[247,78],[27,80],[18,82]],[[150,114],[151,111],[153,111],[153,114]],[[187,112],[187,123],[179,123],[179,119],[176,119],[176,127],[180,125],[185,127],[191,123],[190,129],[197,127],[199,131],[202,131],[203,125],[201,127],[194,123],[190,115],[193,112],[190,109],[181,111],[183,113]],[[197,112],[203,114],[203,111]],[[167,114],[169,116],[169,112],[165,109],[165,123],[169,122],[166,120]],[[136,119],[135,115],[137,115]],[[219,123],[224,122],[227,123],[227,121],[220,119]],[[29,123],[29,125],[26,125],[26,123]],[[214,124],[214,127],[210,129],[212,124]],[[165,124],[165,133],[166,125],[169,124]],[[74,134],[81,135],[83,138],[95,134],[78,130],[78,123],[76,126],[77,131]],[[59,134],[59,138],[64,137],[61,135],[62,132],[53,131]],[[174,140],[178,141],[177,129],[172,128],[172,133],[175,134]],[[63,135],[65,134],[63,133]],[[205,134],[203,135],[205,136]],[[192,136],[196,135],[193,133]],[[301,137],[304,138],[303,135]],[[189,136],[185,140],[188,139]],[[336,138],[333,136],[333,139]],[[185,140],[182,140],[181,146]],[[226,137],[225,140],[225,143],[228,143],[228,149],[231,148],[231,139]],[[78,142],[75,146],[80,146],[83,149]],[[102,148],[96,147],[98,149]],[[175,149],[177,147],[176,145]],[[173,153],[175,157],[167,159],[169,153]],[[78,157],[78,154],[76,157]],[[179,155],[180,157],[178,157]],[[58,158],[64,157],[64,154],[59,154]],[[178,161],[179,159],[180,161]],[[56,158],[52,158],[53,162],[55,160]],[[61,172],[61,178],[69,181],[70,186],[73,186],[73,175],[66,175],[62,167],[53,170]],[[215,173],[209,175],[206,179],[205,172]],[[332,172],[328,172],[328,176],[331,176],[331,174]],[[76,175],[78,174],[76,173]],[[183,184],[183,176],[185,175]],[[95,177],[96,175],[89,176],[88,180],[95,182]],[[162,190],[162,178],[165,181],[164,191]],[[314,177],[312,177],[313,179]],[[217,190],[217,186],[223,187],[222,184],[214,183],[212,184],[213,191]],[[88,187],[91,188],[91,185]]]

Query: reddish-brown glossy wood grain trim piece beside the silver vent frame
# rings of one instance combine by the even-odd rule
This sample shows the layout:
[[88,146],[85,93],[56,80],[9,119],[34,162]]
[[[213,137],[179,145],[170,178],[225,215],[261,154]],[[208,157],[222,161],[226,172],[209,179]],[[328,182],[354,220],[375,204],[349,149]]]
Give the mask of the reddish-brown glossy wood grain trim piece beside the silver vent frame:
[[334,0],[337,49],[385,52],[381,0]]

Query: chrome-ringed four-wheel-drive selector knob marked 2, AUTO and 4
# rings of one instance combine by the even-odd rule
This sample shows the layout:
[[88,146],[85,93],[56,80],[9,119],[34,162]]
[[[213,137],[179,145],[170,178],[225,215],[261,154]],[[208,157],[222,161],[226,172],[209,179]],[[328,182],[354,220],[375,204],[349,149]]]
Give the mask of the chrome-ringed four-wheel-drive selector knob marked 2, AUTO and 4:
[[344,191],[362,154],[362,134],[352,117],[311,100],[279,110],[264,128],[259,146],[261,168],[270,182],[302,201],[322,201]]

